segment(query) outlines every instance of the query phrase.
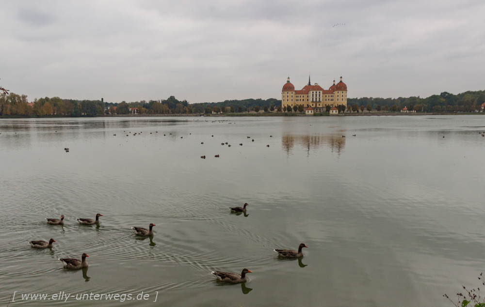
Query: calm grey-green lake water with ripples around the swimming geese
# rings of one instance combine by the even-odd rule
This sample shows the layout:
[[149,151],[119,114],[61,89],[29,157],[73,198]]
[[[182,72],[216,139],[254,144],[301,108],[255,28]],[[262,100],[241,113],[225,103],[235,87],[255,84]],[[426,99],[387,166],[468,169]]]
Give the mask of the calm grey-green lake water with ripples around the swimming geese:
[[[483,131],[479,115],[0,120],[0,305],[452,306],[485,271]],[[153,239],[130,230],[149,223]],[[302,242],[300,261],[273,251]],[[88,270],[57,260],[83,252]],[[210,274],[242,268],[245,284]],[[116,293],[142,300],[94,296]]]

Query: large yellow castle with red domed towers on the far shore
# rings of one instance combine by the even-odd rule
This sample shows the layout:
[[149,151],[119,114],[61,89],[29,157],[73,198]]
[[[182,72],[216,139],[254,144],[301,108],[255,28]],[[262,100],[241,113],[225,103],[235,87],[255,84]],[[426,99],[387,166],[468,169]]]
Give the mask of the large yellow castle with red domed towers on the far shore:
[[304,108],[312,107],[317,113],[323,112],[327,105],[347,107],[347,85],[342,82],[342,77],[340,77],[339,83],[335,84],[334,80],[333,85],[328,90],[324,90],[317,83],[311,85],[310,77],[308,77],[308,84],[303,89],[295,91],[295,87],[288,77],[281,91],[281,107],[288,108],[294,105],[303,105]]

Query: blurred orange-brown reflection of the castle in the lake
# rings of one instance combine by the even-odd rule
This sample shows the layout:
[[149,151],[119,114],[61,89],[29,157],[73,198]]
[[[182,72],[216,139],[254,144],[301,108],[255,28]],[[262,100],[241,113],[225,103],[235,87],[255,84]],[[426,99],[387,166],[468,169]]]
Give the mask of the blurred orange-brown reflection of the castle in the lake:
[[294,135],[290,133],[283,134],[281,138],[282,147],[289,154],[295,146],[301,146],[310,154],[310,150],[316,150],[321,147],[328,147],[332,153],[340,154],[345,147],[345,138],[342,134],[335,135]]

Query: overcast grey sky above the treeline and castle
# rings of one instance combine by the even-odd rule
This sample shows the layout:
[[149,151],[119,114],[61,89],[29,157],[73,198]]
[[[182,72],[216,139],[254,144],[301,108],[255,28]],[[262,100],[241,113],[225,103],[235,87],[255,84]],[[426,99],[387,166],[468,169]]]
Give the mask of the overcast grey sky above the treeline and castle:
[[308,73],[348,97],[485,90],[484,0],[0,4],[0,85],[30,101],[279,99]]

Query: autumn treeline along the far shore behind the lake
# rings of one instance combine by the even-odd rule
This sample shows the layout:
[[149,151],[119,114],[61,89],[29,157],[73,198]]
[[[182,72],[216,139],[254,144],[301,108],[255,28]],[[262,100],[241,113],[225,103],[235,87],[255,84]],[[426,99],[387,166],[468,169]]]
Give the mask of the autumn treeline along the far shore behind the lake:
[[[339,106],[339,115],[391,115],[391,114],[464,114],[483,112],[485,91],[452,94],[442,92],[427,98],[349,98],[347,106]],[[198,116],[198,115],[301,115],[303,105],[292,108],[281,107],[281,100],[243,99],[222,102],[191,104],[174,96],[162,100],[120,103],[101,100],[62,99],[60,97],[35,98],[30,102],[26,95],[13,92],[0,94],[0,117],[81,117],[81,116]],[[408,113],[403,113],[402,110]],[[314,115],[328,115],[326,112]]]

